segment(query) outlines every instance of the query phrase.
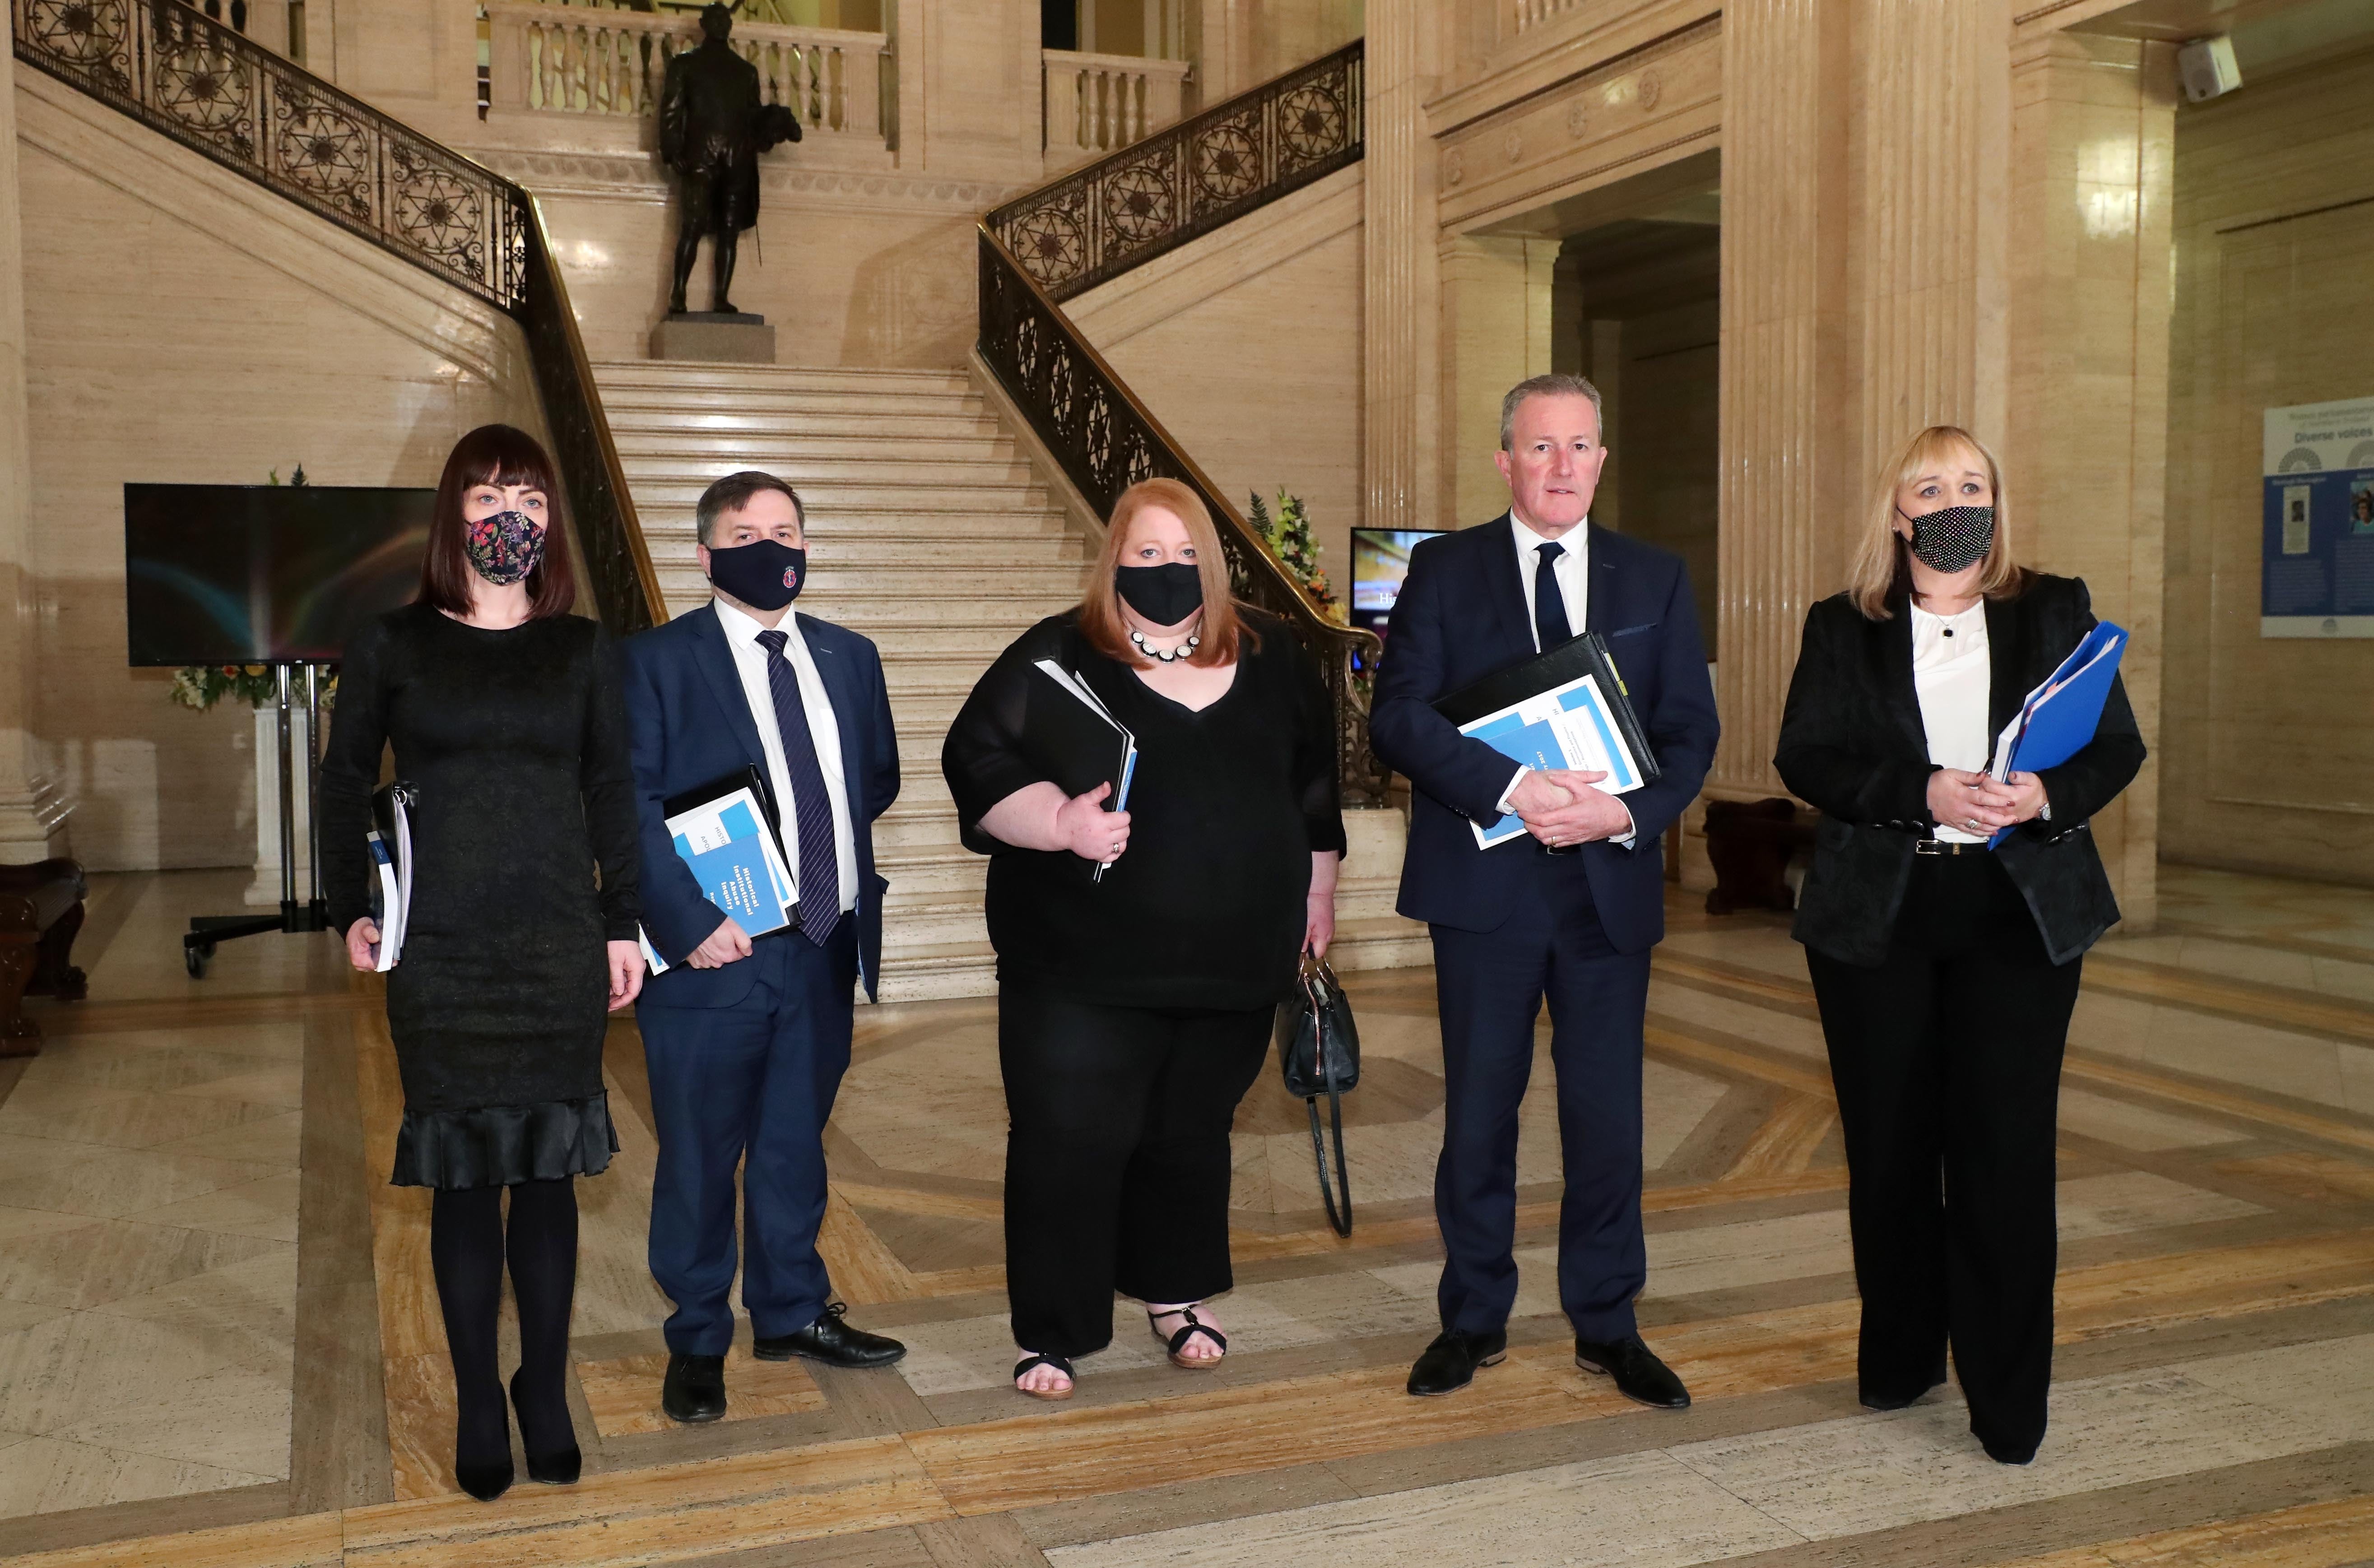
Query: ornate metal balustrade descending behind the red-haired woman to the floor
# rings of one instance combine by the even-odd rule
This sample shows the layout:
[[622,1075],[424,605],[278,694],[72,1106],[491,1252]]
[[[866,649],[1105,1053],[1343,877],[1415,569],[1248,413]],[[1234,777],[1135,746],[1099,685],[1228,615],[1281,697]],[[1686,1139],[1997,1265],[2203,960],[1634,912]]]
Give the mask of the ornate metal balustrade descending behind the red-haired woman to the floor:
[[1379,652],[1377,636],[1337,626],[1320,612],[1244,512],[1147,413],[988,223],[980,225],[980,358],[1099,517],[1111,515],[1121,491],[1140,479],[1180,479],[1204,498],[1220,527],[1237,598],[1284,619],[1320,667],[1337,714],[1344,799],[1384,804],[1389,778],[1367,745],[1367,671]]

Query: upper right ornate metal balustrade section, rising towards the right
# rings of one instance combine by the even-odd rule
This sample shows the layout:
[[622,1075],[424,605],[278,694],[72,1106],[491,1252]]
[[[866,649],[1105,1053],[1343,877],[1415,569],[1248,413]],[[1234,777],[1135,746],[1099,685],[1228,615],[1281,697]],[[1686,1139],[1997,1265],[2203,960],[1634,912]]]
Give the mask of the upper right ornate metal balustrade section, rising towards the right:
[[1097,159],[988,216],[1056,301],[1360,159],[1360,45]]

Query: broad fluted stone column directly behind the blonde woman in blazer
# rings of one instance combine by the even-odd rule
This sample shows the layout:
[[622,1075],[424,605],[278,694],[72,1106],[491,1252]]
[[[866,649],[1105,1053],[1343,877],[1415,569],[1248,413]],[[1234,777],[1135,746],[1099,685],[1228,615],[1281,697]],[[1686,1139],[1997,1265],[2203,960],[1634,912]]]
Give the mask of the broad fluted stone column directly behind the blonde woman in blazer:
[[1809,603],[1845,586],[1875,470],[1923,425],[2001,441],[2004,0],[1724,12],[1716,797],[1780,792]]

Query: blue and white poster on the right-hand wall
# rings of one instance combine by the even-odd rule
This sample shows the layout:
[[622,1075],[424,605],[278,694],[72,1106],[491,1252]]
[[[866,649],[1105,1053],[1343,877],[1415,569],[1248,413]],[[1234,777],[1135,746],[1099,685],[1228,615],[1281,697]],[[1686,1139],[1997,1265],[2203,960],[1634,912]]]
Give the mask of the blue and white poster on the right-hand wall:
[[2374,399],[2270,408],[2258,636],[2374,638]]

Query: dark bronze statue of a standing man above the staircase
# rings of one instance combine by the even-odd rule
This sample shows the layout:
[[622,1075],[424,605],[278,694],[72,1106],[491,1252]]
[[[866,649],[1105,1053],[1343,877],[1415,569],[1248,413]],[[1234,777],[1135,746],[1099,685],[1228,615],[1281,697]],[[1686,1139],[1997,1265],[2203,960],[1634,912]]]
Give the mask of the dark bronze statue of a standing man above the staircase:
[[776,142],[800,140],[800,116],[783,104],[762,104],[757,66],[736,55],[734,9],[700,9],[700,47],[667,62],[660,88],[660,159],[684,176],[684,218],[677,225],[677,278],[667,294],[669,315],[684,315],[684,285],[700,254],[700,235],[715,235],[712,268],[717,313],[731,313],[734,251],[741,232],[757,223],[757,154]]

